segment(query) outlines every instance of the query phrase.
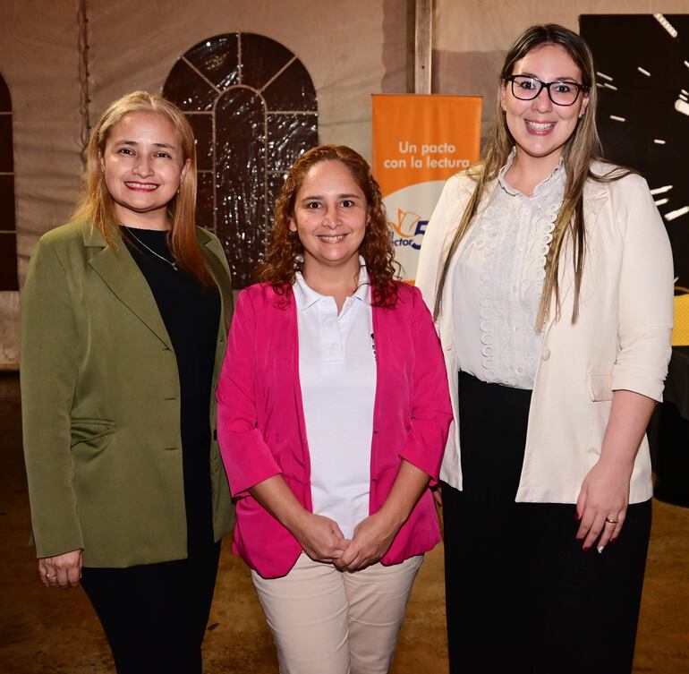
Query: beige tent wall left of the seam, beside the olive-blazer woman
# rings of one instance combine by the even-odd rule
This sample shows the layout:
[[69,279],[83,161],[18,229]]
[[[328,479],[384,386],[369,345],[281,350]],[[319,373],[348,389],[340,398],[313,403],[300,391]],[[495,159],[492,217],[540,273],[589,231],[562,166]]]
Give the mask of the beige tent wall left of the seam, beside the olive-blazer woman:
[[[75,0],[0,3],[0,72],[13,101],[20,283],[39,235],[67,218],[79,190]],[[0,368],[19,358],[19,294],[0,293]]]

